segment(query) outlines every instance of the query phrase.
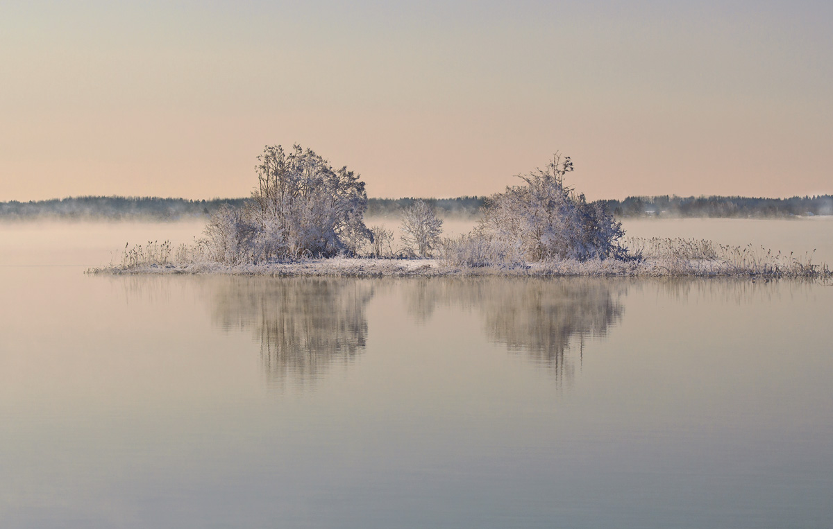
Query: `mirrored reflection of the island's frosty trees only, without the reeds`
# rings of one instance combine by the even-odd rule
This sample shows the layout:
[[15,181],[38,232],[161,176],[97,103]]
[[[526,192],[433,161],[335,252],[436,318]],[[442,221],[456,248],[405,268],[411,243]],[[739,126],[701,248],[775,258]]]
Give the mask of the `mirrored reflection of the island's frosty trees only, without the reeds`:
[[[623,313],[624,282],[604,279],[232,278],[212,284],[214,323],[251,330],[271,383],[307,384],[348,363],[367,341],[366,306],[381,290],[404,299],[425,324],[437,307],[480,314],[486,338],[570,379],[588,337]],[[568,358],[575,350],[577,358]]]

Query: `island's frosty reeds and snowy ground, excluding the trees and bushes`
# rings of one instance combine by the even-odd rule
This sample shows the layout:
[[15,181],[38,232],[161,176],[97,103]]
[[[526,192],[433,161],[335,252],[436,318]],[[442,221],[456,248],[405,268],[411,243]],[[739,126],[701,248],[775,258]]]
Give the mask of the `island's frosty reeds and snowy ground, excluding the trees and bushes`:
[[223,264],[209,259],[199,245],[172,249],[167,242],[126,248],[122,259],[90,269],[93,274],[242,274],[271,276],[627,276],[627,277],[761,277],[830,279],[826,264],[813,264],[812,255],[784,255],[751,245],[717,245],[709,240],[626,240],[628,257],[535,262],[489,261],[489,248],[475,245],[471,260],[459,255],[436,259],[344,257]]

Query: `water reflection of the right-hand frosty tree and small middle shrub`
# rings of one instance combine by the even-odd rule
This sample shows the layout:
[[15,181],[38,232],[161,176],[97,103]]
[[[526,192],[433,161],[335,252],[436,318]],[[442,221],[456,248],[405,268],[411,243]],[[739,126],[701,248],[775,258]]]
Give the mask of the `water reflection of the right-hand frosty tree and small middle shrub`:
[[621,319],[625,288],[623,282],[589,278],[431,278],[407,284],[406,301],[418,320],[429,319],[439,304],[476,309],[489,339],[570,378],[573,367],[565,353],[571,340],[604,336]]

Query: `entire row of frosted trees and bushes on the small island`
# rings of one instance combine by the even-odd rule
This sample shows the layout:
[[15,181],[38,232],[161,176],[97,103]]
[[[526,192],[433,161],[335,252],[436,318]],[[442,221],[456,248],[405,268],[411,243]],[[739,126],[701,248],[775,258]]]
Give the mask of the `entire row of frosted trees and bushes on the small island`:
[[252,264],[302,257],[438,255],[470,267],[541,260],[621,258],[621,223],[604,205],[588,204],[565,185],[573,171],[556,153],[544,169],[519,176],[521,185],[489,197],[470,234],[441,240],[433,205],[416,200],[402,214],[402,249],[392,233],[364,224],[364,182],[347,167],[334,170],[312,150],[267,146],[257,158],[257,189],[242,208],[212,215],[202,240],[205,254],[223,264]]

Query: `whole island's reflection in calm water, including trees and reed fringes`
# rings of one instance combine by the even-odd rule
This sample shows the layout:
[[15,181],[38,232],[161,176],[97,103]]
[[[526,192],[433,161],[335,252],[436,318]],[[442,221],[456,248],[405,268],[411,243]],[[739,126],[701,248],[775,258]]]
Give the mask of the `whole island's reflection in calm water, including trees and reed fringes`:
[[[806,296],[811,284],[753,283],[719,279],[421,278],[334,279],[263,277],[112,278],[150,304],[168,304],[194,289],[208,301],[213,324],[241,329],[260,344],[270,385],[300,386],[322,378],[332,365],[349,364],[367,343],[367,304],[375,296],[405,304],[427,325],[437,309],[444,318],[475,314],[481,336],[569,381],[583,360],[586,339],[605,337],[621,322],[628,294],[672,299],[676,304],[716,299],[760,304]],[[178,293],[178,294],[177,294]],[[132,295],[131,295],[132,294]],[[385,302],[385,303],[388,303]],[[379,326],[394,314],[380,312]]]

